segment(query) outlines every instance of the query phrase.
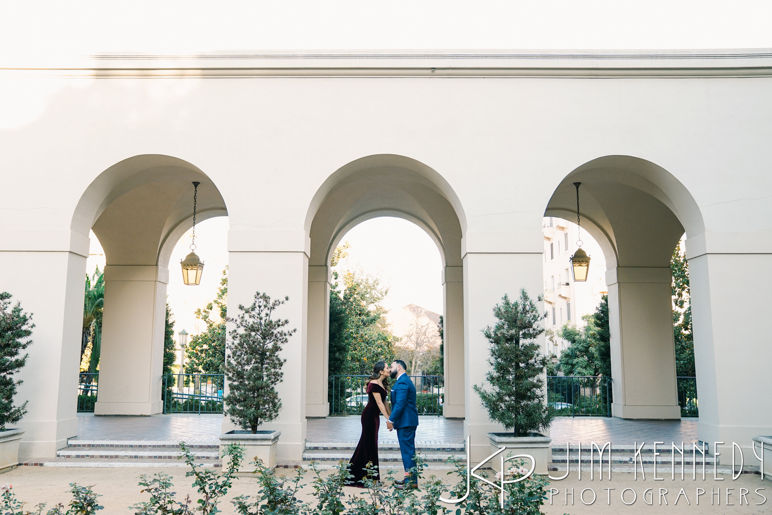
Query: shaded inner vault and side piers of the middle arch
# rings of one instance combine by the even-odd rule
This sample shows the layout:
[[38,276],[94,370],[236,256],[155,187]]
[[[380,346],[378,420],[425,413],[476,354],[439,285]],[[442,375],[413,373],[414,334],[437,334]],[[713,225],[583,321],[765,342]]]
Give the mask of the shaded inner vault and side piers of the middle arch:
[[[445,377],[464,374],[463,219],[455,195],[425,164],[393,154],[361,158],[325,181],[306,217],[310,236],[307,361],[323,364],[306,374],[306,416],[330,413],[328,402],[330,256],[354,226],[391,216],[421,227],[434,240],[442,259],[438,283],[443,290]],[[445,417],[464,416],[462,381],[445,381]]]

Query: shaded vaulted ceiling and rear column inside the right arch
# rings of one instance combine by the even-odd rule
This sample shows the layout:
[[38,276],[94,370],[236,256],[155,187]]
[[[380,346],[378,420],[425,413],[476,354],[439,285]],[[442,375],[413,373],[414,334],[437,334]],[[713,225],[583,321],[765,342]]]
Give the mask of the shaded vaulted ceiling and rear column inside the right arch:
[[601,246],[607,270],[613,415],[680,418],[672,317],[673,249],[704,231],[696,202],[668,171],[640,158],[606,156],[561,181],[546,216],[576,216]]

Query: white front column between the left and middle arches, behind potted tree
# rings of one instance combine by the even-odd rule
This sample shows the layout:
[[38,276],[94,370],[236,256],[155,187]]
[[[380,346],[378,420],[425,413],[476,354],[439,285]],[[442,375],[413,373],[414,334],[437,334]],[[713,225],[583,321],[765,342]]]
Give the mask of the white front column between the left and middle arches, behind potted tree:
[[[276,387],[282,401],[279,417],[260,428],[282,432],[276,449],[279,460],[299,461],[306,446],[309,245],[303,231],[229,231],[228,236],[229,317],[239,315],[239,304],[252,304],[256,292],[267,293],[272,299],[289,296],[289,301],[275,317],[289,320],[286,329],[297,330],[281,354],[286,363],[282,369],[283,381]],[[232,324],[229,324],[231,329]],[[323,364],[314,366],[323,367]],[[222,431],[232,429],[240,428],[236,428],[226,415]]]

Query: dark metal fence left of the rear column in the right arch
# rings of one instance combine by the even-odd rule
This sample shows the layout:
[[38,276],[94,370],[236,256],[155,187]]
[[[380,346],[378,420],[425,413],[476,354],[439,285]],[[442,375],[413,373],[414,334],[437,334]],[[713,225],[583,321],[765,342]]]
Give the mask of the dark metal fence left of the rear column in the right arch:
[[560,417],[611,416],[611,378],[547,376],[547,404]]

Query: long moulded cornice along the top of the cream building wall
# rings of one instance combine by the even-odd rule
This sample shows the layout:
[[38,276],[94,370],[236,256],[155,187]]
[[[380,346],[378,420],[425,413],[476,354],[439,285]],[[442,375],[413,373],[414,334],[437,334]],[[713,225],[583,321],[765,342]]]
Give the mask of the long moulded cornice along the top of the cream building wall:
[[772,76],[772,49],[106,53],[47,61],[0,63],[0,70],[5,75],[93,77]]

